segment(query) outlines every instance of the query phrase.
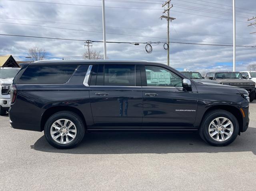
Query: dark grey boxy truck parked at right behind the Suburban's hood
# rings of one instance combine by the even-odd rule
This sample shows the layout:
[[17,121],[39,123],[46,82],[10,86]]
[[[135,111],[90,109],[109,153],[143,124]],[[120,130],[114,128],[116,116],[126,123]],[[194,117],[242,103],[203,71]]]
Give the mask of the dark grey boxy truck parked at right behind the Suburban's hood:
[[244,88],[248,91],[250,101],[255,98],[255,82],[244,79],[240,72],[211,72],[206,74],[206,79],[214,80],[223,85]]

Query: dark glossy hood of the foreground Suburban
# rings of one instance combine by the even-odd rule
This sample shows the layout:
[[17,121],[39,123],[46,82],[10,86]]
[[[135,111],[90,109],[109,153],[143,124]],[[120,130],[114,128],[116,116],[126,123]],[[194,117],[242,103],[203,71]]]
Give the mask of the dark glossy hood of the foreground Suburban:
[[[213,83],[198,83],[200,87],[204,87],[201,90],[207,92],[217,92],[217,93],[230,93],[230,94],[248,94],[248,91],[243,88],[222,85],[222,84],[213,84]],[[198,86],[197,85],[197,86]],[[209,88],[207,88],[209,87]]]

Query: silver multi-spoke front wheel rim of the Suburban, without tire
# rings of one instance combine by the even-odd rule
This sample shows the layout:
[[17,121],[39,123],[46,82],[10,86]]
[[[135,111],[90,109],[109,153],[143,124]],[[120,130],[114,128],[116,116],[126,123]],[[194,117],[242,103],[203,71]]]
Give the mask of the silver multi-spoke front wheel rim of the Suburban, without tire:
[[233,130],[232,122],[226,117],[215,118],[208,128],[210,137],[215,141],[228,140],[232,136]]

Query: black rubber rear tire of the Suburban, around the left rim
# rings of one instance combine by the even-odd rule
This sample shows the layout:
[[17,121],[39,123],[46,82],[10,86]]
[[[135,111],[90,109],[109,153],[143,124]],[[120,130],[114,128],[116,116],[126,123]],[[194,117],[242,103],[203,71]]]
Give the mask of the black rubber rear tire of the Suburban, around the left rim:
[[[50,134],[50,128],[52,124],[58,119],[68,119],[75,124],[76,137],[74,138],[74,140],[72,140],[72,142],[67,144],[60,144],[53,140]],[[56,114],[53,114],[52,116],[50,116],[50,118],[48,118],[44,126],[44,136],[46,137],[47,142],[58,149],[69,149],[76,147],[84,138],[84,134],[85,126],[83,120],[80,118],[80,116],[70,111],[61,111],[57,112]]]

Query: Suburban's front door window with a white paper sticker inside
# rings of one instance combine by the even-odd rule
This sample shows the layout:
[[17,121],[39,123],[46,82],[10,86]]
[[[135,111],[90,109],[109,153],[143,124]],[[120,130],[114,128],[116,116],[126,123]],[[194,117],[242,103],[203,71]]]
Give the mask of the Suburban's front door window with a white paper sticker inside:
[[148,87],[182,87],[182,79],[158,66],[145,66]]

